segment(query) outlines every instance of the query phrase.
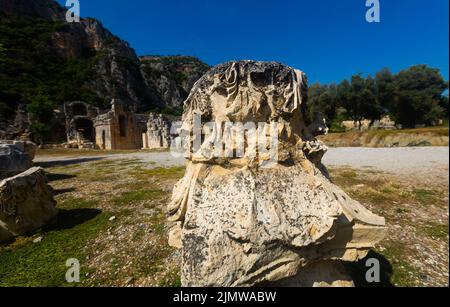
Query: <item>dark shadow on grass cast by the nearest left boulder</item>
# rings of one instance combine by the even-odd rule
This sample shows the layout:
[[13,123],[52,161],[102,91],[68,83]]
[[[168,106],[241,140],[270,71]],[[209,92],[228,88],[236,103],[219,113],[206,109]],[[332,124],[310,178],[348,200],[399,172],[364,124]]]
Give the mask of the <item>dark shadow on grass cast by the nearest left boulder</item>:
[[99,209],[83,208],[83,209],[72,209],[65,210],[59,209],[56,221],[52,224],[44,226],[42,230],[45,232],[71,229],[75,226],[81,225],[89,220],[94,219],[100,213]]

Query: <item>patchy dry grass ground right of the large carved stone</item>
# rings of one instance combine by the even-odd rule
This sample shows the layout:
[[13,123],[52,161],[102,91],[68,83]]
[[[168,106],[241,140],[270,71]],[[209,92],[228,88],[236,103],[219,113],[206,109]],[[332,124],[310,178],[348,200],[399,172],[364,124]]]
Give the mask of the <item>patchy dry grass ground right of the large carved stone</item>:
[[[331,169],[337,185],[386,218],[389,234],[369,254],[380,260],[382,286],[448,286],[448,186],[420,186],[373,170]],[[365,260],[348,265],[368,286]]]

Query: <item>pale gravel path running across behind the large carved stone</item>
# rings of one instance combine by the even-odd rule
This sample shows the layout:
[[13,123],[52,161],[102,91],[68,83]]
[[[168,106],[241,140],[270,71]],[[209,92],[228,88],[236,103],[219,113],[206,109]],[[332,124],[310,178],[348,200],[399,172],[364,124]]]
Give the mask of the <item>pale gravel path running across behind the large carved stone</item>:
[[[154,165],[171,167],[183,165],[183,158],[174,158],[169,152],[134,152],[100,156],[38,156],[35,162],[64,162],[90,159],[139,159]],[[426,184],[449,182],[449,147],[402,148],[330,148],[324,164],[332,167],[373,168],[404,178],[414,178]]]

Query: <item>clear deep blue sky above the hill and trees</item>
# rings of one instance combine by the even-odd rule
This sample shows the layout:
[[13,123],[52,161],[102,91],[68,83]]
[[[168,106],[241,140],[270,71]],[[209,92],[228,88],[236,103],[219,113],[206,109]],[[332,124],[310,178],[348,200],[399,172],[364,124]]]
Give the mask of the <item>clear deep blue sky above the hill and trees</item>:
[[414,64],[439,68],[448,79],[448,0],[380,0],[380,23],[366,22],[365,2],[80,0],[80,6],[82,17],[102,21],[138,55],[193,55],[210,65],[279,61],[322,83]]

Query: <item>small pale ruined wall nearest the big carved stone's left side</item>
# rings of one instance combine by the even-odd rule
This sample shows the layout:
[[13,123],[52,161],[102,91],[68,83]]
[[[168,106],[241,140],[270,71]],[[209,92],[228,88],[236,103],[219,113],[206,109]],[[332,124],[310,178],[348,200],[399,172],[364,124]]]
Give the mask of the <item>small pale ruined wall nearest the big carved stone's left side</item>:
[[169,148],[173,139],[171,126],[171,121],[162,114],[150,113],[147,132],[142,134],[143,149]]

